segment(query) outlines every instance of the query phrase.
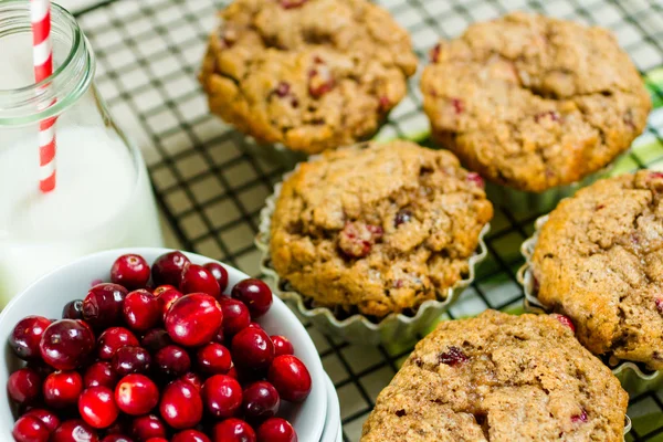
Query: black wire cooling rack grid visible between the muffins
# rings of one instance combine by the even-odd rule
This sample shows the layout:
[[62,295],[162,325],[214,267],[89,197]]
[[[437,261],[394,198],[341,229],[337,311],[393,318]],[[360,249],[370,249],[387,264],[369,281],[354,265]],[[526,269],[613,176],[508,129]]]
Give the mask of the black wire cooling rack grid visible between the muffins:
[[[663,2],[661,0],[380,0],[406,27],[422,61],[440,38],[460,34],[474,21],[524,9],[610,28],[629,51],[662,106]],[[97,86],[110,110],[141,147],[164,217],[168,245],[220,259],[259,275],[253,245],[259,211],[274,182],[292,169],[293,156],[256,149],[208,114],[196,76],[215,11],[225,1],[107,0],[78,12],[97,54]],[[419,76],[392,112],[379,138],[428,131]],[[663,109],[617,172],[663,169]],[[492,307],[517,311],[523,292],[515,277],[518,248],[538,213],[518,218],[499,208],[487,238],[491,259],[448,317]],[[308,326],[340,398],[345,441],[358,441],[379,391],[411,346],[356,347]],[[628,440],[663,441],[663,393],[631,398]],[[309,441],[303,441],[309,442]]]

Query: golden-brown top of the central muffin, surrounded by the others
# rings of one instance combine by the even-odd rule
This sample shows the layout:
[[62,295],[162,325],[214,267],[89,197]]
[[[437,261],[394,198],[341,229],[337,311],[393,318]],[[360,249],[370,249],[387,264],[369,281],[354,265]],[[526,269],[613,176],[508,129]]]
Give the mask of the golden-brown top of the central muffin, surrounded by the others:
[[316,305],[383,317],[444,299],[493,207],[443,150],[367,143],[301,164],[272,215],[278,275]]

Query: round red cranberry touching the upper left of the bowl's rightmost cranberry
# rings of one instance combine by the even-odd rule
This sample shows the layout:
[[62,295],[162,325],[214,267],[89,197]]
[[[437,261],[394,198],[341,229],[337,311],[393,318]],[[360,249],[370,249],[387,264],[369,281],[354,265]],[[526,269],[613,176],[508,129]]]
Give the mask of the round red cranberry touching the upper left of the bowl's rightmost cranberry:
[[264,370],[274,359],[274,344],[259,328],[244,328],[232,338],[233,362],[240,368]]

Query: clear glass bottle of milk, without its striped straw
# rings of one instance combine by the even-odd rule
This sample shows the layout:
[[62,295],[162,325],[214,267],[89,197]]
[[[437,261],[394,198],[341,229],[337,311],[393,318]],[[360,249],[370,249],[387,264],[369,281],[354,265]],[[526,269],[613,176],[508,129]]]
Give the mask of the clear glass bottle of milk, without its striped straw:
[[[84,254],[162,243],[145,162],[94,87],[90,43],[56,4],[51,23],[53,75],[34,84],[30,1],[0,1],[0,307]],[[55,187],[44,192],[39,131],[52,117]]]

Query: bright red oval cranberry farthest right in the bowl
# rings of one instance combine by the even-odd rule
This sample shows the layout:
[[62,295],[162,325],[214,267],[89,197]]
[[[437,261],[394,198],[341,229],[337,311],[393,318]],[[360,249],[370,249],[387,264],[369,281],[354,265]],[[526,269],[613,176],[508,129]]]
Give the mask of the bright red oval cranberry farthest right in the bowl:
[[267,379],[282,399],[302,402],[311,392],[311,375],[297,357],[284,355],[274,358]]

